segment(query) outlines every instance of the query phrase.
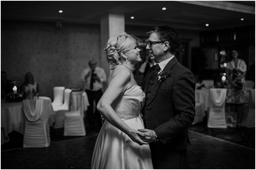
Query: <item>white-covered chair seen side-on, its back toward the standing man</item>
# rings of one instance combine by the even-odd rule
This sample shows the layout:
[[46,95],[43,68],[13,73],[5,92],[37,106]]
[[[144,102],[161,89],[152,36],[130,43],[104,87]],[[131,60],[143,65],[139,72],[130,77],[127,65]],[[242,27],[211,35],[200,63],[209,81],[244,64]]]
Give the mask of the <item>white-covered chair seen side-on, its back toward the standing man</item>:
[[69,111],[69,100],[71,89],[66,88],[64,90],[64,103],[60,106],[53,108],[55,111],[55,123],[53,128],[63,128],[64,127],[64,114]]

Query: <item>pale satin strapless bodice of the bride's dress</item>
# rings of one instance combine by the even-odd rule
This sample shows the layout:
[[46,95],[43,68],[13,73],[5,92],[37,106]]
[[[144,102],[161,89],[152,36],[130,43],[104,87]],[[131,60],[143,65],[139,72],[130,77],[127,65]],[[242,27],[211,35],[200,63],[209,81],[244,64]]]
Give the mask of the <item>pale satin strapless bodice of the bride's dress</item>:
[[145,103],[145,93],[141,87],[134,85],[124,91],[113,103],[112,107],[122,119],[130,119],[139,116]]

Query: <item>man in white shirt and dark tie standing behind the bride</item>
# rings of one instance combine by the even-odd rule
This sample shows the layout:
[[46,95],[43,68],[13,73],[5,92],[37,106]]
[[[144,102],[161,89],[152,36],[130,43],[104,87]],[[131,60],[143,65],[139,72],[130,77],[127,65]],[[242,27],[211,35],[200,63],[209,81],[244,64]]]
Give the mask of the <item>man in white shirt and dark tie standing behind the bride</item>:
[[90,125],[89,129],[92,130],[101,127],[100,113],[95,109],[94,114],[94,107],[96,107],[103,94],[103,83],[107,81],[107,77],[105,71],[97,67],[97,60],[95,58],[90,58],[88,64],[89,68],[83,70],[81,79],[85,82],[84,88],[90,104],[87,110],[87,118]]

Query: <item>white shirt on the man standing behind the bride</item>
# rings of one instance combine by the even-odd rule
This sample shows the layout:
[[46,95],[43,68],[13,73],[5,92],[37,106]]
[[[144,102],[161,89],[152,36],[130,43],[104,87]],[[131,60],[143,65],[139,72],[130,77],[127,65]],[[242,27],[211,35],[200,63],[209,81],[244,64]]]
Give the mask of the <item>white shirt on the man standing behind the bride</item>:
[[[87,68],[87,69],[83,70],[83,72],[81,74],[81,79],[85,82],[84,88],[86,90],[91,90],[90,89],[91,76],[89,76],[86,80],[84,79],[84,76],[90,70],[91,70],[90,68]],[[102,83],[107,81],[107,76],[106,76],[105,71],[102,68],[100,68],[100,67],[96,67],[95,68],[94,74],[97,74],[97,76],[100,78],[100,82],[95,81],[93,83],[93,89],[91,91],[98,91],[98,90],[102,89],[102,87],[103,87]]]

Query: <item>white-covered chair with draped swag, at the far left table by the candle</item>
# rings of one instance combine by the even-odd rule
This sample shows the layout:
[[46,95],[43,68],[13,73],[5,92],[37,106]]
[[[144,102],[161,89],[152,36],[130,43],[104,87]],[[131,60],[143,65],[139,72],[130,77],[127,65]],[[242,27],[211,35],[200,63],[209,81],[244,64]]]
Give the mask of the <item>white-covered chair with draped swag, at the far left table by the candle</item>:
[[22,103],[26,116],[23,147],[49,147],[49,115],[44,111],[44,100],[23,100]]

